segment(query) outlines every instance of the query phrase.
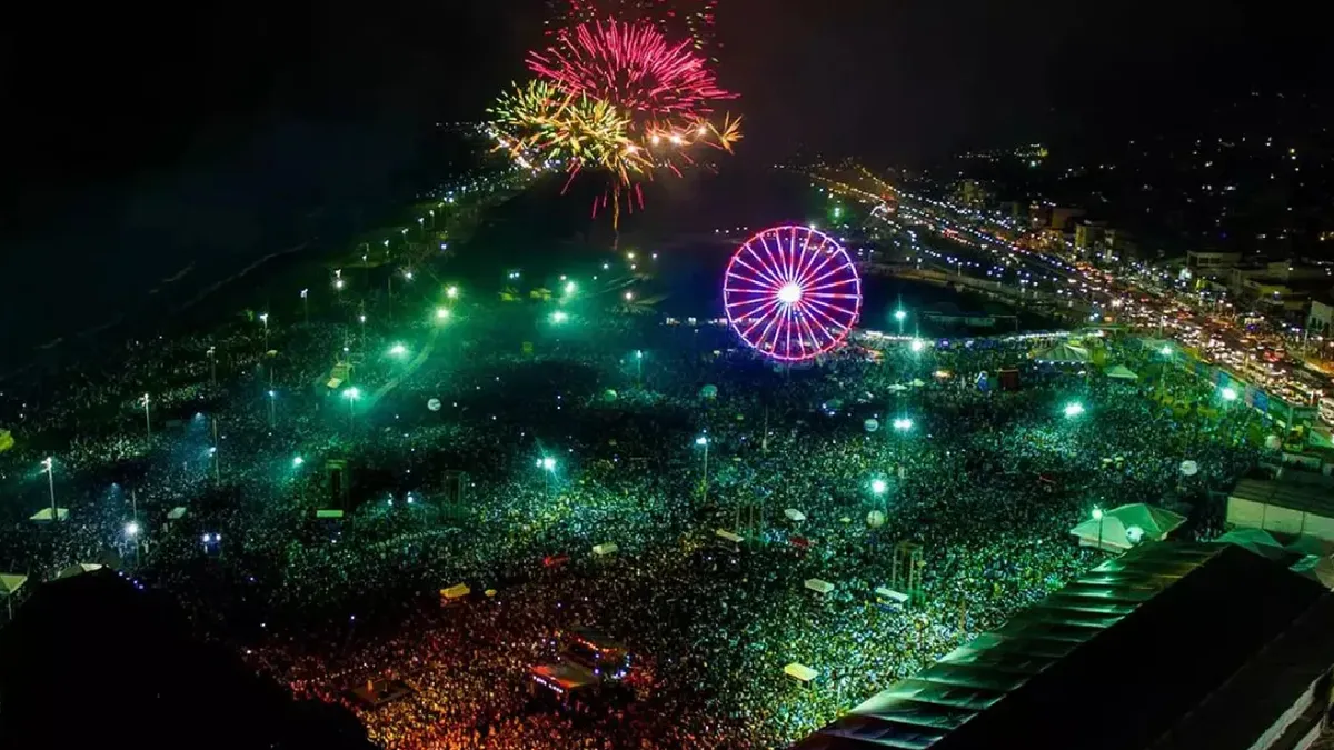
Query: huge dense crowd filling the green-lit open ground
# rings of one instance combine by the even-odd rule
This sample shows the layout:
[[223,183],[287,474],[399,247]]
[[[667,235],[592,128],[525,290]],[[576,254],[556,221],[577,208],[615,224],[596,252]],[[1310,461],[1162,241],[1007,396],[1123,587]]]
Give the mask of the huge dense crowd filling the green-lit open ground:
[[[1029,358],[1063,336],[776,370],[707,323],[434,308],[379,295],[366,324],[350,304],[231,322],[45,379],[4,415],[20,443],[0,454],[0,570],[131,570],[388,749],[779,747],[1097,565],[1070,536],[1094,506],[1163,504],[1215,534],[1209,491],[1258,451],[1246,408],[1131,336],[1097,343],[1131,383]],[[359,399],[328,386],[340,360]],[[346,500],[328,460],[348,462]],[[49,494],[68,519],[28,520]],[[920,590],[890,606],[874,591],[903,587],[900,542]],[[456,583],[472,594],[442,606]],[[591,714],[528,677],[580,623],[634,654],[630,697]],[[387,681],[410,690],[351,693]]]

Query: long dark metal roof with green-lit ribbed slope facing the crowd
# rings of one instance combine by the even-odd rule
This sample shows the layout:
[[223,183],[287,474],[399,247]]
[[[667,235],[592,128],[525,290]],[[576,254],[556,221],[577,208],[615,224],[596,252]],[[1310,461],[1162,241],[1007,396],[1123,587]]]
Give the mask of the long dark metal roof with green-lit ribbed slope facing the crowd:
[[[1231,544],[1146,544],[795,750],[1143,747],[1325,594]],[[1075,741],[1074,725],[1097,733]]]

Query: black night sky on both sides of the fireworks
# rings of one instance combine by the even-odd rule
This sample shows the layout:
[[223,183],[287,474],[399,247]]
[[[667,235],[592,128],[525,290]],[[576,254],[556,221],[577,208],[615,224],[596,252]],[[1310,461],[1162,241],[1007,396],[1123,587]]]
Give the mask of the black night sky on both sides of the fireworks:
[[[1309,13],[1286,0],[722,0],[719,76],[747,127],[732,168],[798,147],[927,163],[1189,125],[1213,97],[1321,85],[1329,43]],[[375,206],[420,179],[431,124],[479,119],[523,76],[543,17],[539,0],[12,13],[0,371],[191,263],[249,262],[315,207]]]

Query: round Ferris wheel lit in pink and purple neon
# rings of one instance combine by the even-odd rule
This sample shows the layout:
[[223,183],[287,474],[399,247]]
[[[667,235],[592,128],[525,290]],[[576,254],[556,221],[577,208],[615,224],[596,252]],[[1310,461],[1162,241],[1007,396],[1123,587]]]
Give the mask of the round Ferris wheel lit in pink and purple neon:
[[732,255],[723,304],[751,348],[779,362],[806,362],[847,339],[862,312],[862,278],[828,235],[774,227]]

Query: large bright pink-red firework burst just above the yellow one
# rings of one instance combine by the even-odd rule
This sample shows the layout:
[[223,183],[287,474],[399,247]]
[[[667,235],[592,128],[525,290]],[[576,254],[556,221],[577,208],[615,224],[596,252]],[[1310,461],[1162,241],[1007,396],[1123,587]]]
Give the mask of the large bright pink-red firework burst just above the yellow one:
[[528,68],[570,93],[632,113],[700,116],[711,111],[710,100],[734,95],[718,87],[691,44],[667,43],[651,23],[583,24],[544,52],[531,52]]

